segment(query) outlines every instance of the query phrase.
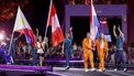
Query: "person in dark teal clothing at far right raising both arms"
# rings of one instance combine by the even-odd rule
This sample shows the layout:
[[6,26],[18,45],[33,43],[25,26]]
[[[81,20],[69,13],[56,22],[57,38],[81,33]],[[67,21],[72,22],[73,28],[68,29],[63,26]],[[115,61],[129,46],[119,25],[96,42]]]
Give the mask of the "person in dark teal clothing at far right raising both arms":
[[116,35],[115,33],[115,29],[116,26],[114,25],[113,26],[113,34],[115,36],[115,40],[116,40],[116,51],[115,51],[115,54],[114,54],[114,70],[118,70],[118,62],[119,59],[121,59],[122,62],[122,65],[123,65],[123,70],[126,72],[126,62],[125,62],[125,56],[124,56],[124,53],[123,53],[123,43],[124,43],[124,34],[122,33],[122,31],[120,30],[120,26],[118,28],[120,34],[119,36]]

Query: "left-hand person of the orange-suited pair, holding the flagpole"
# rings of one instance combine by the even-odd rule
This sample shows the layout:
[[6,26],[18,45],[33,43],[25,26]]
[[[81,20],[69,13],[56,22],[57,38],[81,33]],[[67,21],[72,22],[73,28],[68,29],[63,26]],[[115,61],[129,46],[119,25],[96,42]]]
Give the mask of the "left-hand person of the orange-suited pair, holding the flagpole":
[[83,66],[85,72],[88,72],[88,59],[90,61],[91,70],[96,70],[93,63],[93,41],[90,37],[90,33],[87,33],[87,37],[82,41],[82,50],[83,50]]

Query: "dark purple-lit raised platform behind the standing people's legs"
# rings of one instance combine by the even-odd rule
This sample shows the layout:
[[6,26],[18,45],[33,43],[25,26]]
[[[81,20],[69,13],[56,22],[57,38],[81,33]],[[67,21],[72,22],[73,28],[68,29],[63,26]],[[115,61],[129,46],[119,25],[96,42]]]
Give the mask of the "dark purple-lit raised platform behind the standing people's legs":
[[[36,62],[38,62],[38,59]],[[30,59],[18,59],[18,61],[15,61],[15,64],[31,65],[32,61],[30,61]],[[53,67],[65,67],[66,61],[65,61],[65,58],[45,58],[44,64],[47,65],[47,66],[53,66]],[[96,63],[96,67],[98,67],[98,65],[99,64]],[[70,59],[70,67],[83,68],[83,61],[82,59],[71,58]],[[105,67],[108,69],[113,69],[114,64],[105,63]],[[121,65],[120,65],[120,67],[122,68]],[[134,69],[134,63],[133,64],[127,64],[127,68],[129,69]]]

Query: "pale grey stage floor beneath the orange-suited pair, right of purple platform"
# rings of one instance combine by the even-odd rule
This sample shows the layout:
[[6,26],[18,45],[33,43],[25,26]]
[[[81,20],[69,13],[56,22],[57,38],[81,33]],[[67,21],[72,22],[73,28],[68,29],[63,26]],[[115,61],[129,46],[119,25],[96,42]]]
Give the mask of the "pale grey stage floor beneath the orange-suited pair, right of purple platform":
[[65,70],[63,67],[54,67],[53,73],[60,74],[62,76],[134,76],[134,70],[116,70],[107,69],[105,72],[85,72],[83,68],[70,68]]

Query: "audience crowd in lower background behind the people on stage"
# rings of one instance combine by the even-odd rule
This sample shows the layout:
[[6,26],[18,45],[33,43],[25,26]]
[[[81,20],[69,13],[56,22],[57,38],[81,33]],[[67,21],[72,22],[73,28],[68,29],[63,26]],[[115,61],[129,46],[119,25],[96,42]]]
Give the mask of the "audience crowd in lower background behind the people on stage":
[[[3,53],[4,51],[8,51],[8,47],[3,47],[4,44],[1,44],[1,53]],[[16,48],[15,50],[15,55],[14,55],[14,59],[32,59],[32,53],[31,53],[31,45],[27,44],[25,41],[18,41],[16,42]],[[115,50],[115,45],[112,43],[109,43],[109,51],[108,51],[108,55],[105,58],[107,63],[114,63],[114,50]],[[126,58],[127,58],[127,63],[132,63],[133,61],[131,58],[133,58],[132,52],[133,48],[131,47],[131,45],[127,45],[124,47],[124,52],[126,54]],[[44,53],[44,57],[45,58],[59,58],[63,57],[63,53],[62,53],[62,44],[59,44],[56,47],[48,47],[47,51],[45,51]],[[81,45],[77,45],[76,43],[72,44],[72,53],[71,53],[71,58],[79,58],[82,59],[82,47]]]

